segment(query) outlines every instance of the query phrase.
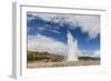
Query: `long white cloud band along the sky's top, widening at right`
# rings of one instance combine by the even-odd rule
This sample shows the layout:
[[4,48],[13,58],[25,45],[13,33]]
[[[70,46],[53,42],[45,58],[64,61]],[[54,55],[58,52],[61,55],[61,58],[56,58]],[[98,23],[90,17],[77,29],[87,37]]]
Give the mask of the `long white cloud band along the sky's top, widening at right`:
[[[40,17],[46,21],[67,22],[71,26],[80,26],[82,32],[87,32],[90,39],[95,38],[100,33],[99,16],[82,14],[56,14],[56,13],[31,13],[33,17]],[[71,28],[73,29],[73,28]]]

